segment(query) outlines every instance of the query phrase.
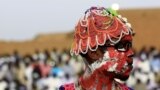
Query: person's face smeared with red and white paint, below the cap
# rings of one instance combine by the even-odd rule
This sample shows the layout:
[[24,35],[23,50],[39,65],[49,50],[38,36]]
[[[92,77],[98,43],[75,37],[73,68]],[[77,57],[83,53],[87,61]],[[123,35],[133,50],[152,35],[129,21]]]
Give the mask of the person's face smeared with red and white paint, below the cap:
[[92,71],[99,70],[104,75],[126,80],[133,63],[132,35],[124,36],[116,44],[106,43],[96,51],[88,51],[87,59]]

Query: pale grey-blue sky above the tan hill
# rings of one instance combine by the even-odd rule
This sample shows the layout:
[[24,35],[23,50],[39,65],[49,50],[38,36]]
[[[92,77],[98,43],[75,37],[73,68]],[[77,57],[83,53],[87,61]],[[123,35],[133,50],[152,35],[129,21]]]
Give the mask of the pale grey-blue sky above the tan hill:
[[37,34],[71,32],[91,6],[160,8],[159,0],[0,0],[0,40],[28,40]]

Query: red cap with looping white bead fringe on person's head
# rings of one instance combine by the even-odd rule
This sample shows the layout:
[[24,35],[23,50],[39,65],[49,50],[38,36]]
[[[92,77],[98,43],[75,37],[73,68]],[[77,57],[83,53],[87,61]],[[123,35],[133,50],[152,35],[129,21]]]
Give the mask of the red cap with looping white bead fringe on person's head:
[[125,35],[132,34],[130,23],[115,11],[103,7],[91,7],[75,27],[71,54],[96,51],[107,40],[118,43]]

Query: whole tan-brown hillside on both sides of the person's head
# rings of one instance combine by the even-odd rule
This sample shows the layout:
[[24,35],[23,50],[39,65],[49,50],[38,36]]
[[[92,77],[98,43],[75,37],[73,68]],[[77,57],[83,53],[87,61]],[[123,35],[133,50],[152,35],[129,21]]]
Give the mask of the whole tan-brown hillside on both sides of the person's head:
[[[136,32],[134,47],[137,50],[143,46],[155,46],[160,49],[160,9],[123,10],[120,13],[132,23],[132,27]],[[35,50],[69,49],[72,38],[73,32],[38,35],[31,41],[23,42],[6,42],[1,40],[0,54],[12,54],[14,50],[25,55],[33,53]]]

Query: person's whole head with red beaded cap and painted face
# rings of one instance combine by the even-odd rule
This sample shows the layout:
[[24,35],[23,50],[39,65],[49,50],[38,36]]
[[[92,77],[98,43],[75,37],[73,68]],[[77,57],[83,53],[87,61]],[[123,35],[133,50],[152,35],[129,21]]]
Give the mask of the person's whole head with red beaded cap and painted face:
[[131,25],[111,9],[91,7],[79,20],[71,52],[92,72],[126,80],[132,70]]

